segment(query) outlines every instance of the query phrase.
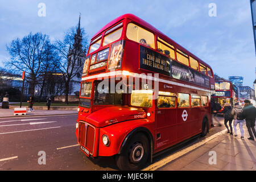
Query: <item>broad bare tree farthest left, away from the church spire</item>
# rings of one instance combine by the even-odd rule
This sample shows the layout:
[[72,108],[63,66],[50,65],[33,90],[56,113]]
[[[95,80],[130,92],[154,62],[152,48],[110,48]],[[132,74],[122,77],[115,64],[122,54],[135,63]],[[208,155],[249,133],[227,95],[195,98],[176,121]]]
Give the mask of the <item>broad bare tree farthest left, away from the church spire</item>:
[[22,40],[19,38],[13,40],[6,46],[11,56],[6,65],[20,73],[22,71],[28,73],[26,81],[30,84],[31,96],[34,96],[35,85],[40,73],[42,73],[43,61],[46,60],[50,44],[49,36],[38,32],[36,34],[30,33],[24,36]]

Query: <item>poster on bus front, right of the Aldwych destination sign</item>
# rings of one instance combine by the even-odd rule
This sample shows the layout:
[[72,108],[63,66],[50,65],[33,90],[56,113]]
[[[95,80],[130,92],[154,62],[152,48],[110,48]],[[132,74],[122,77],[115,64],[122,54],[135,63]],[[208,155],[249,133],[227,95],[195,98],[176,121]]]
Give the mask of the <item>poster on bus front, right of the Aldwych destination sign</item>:
[[108,62],[108,71],[113,71],[115,69],[121,68],[124,47],[125,47],[125,40],[120,40],[112,44],[109,62]]

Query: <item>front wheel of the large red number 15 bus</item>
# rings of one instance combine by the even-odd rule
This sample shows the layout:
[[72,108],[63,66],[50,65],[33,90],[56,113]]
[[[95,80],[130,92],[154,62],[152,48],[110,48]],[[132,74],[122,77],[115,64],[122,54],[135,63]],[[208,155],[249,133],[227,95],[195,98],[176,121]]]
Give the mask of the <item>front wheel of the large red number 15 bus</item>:
[[139,170],[147,163],[150,146],[145,135],[138,133],[126,144],[123,153],[116,156],[117,166],[121,170]]

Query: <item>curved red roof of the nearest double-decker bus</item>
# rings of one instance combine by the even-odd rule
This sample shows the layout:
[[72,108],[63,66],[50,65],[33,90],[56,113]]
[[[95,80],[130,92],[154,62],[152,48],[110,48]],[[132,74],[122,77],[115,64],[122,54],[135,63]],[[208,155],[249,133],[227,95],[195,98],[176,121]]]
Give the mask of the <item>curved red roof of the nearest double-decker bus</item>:
[[[169,38],[168,36],[164,35],[161,31],[157,30],[155,27],[151,26],[151,24],[145,22],[143,19],[139,18],[138,16],[135,16],[133,14],[124,14],[119,16],[118,18],[112,20],[111,22],[109,22],[108,24],[106,24],[103,28],[101,28],[100,31],[98,31],[93,37],[92,40],[94,38],[96,38],[99,34],[101,34],[103,31],[105,31],[107,28],[113,26],[113,24],[121,21],[122,19],[130,19],[133,22],[136,22],[138,24],[140,24],[141,26],[143,26],[144,28],[154,32],[155,34],[158,34],[162,39],[166,40],[167,42],[170,42],[173,46],[175,46],[176,48],[180,49],[180,51],[183,51],[184,53],[186,53],[187,55],[193,57],[194,59],[198,60],[199,63],[203,63],[204,65],[206,65],[208,68],[211,68],[210,65],[208,65],[207,63],[205,63],[203,60],[201,60],[199,57],[193,55],[193,53],[189,52],[187,49],[185,49],[184,47],[180,46],[180,44],[176,43],[174,40],[172,40],[171,38]],[[211,68],[212,69],[212,68]]]

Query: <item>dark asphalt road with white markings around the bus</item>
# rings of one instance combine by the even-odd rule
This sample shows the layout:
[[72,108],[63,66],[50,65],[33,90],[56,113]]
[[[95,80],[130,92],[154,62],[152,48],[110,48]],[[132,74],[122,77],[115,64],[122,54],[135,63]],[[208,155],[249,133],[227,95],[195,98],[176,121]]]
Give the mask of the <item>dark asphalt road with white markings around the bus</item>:
[[[0,170],[118,170],[113,157],[92,160],[79,150],[76,119],[77,114],[0,118]],[[224,126],[214,127],[207,137],[222,129]],[[165,152],[154,158],[154,162],[201,139],[195,138]],[[43,153],[46,154],[45,160]]]

